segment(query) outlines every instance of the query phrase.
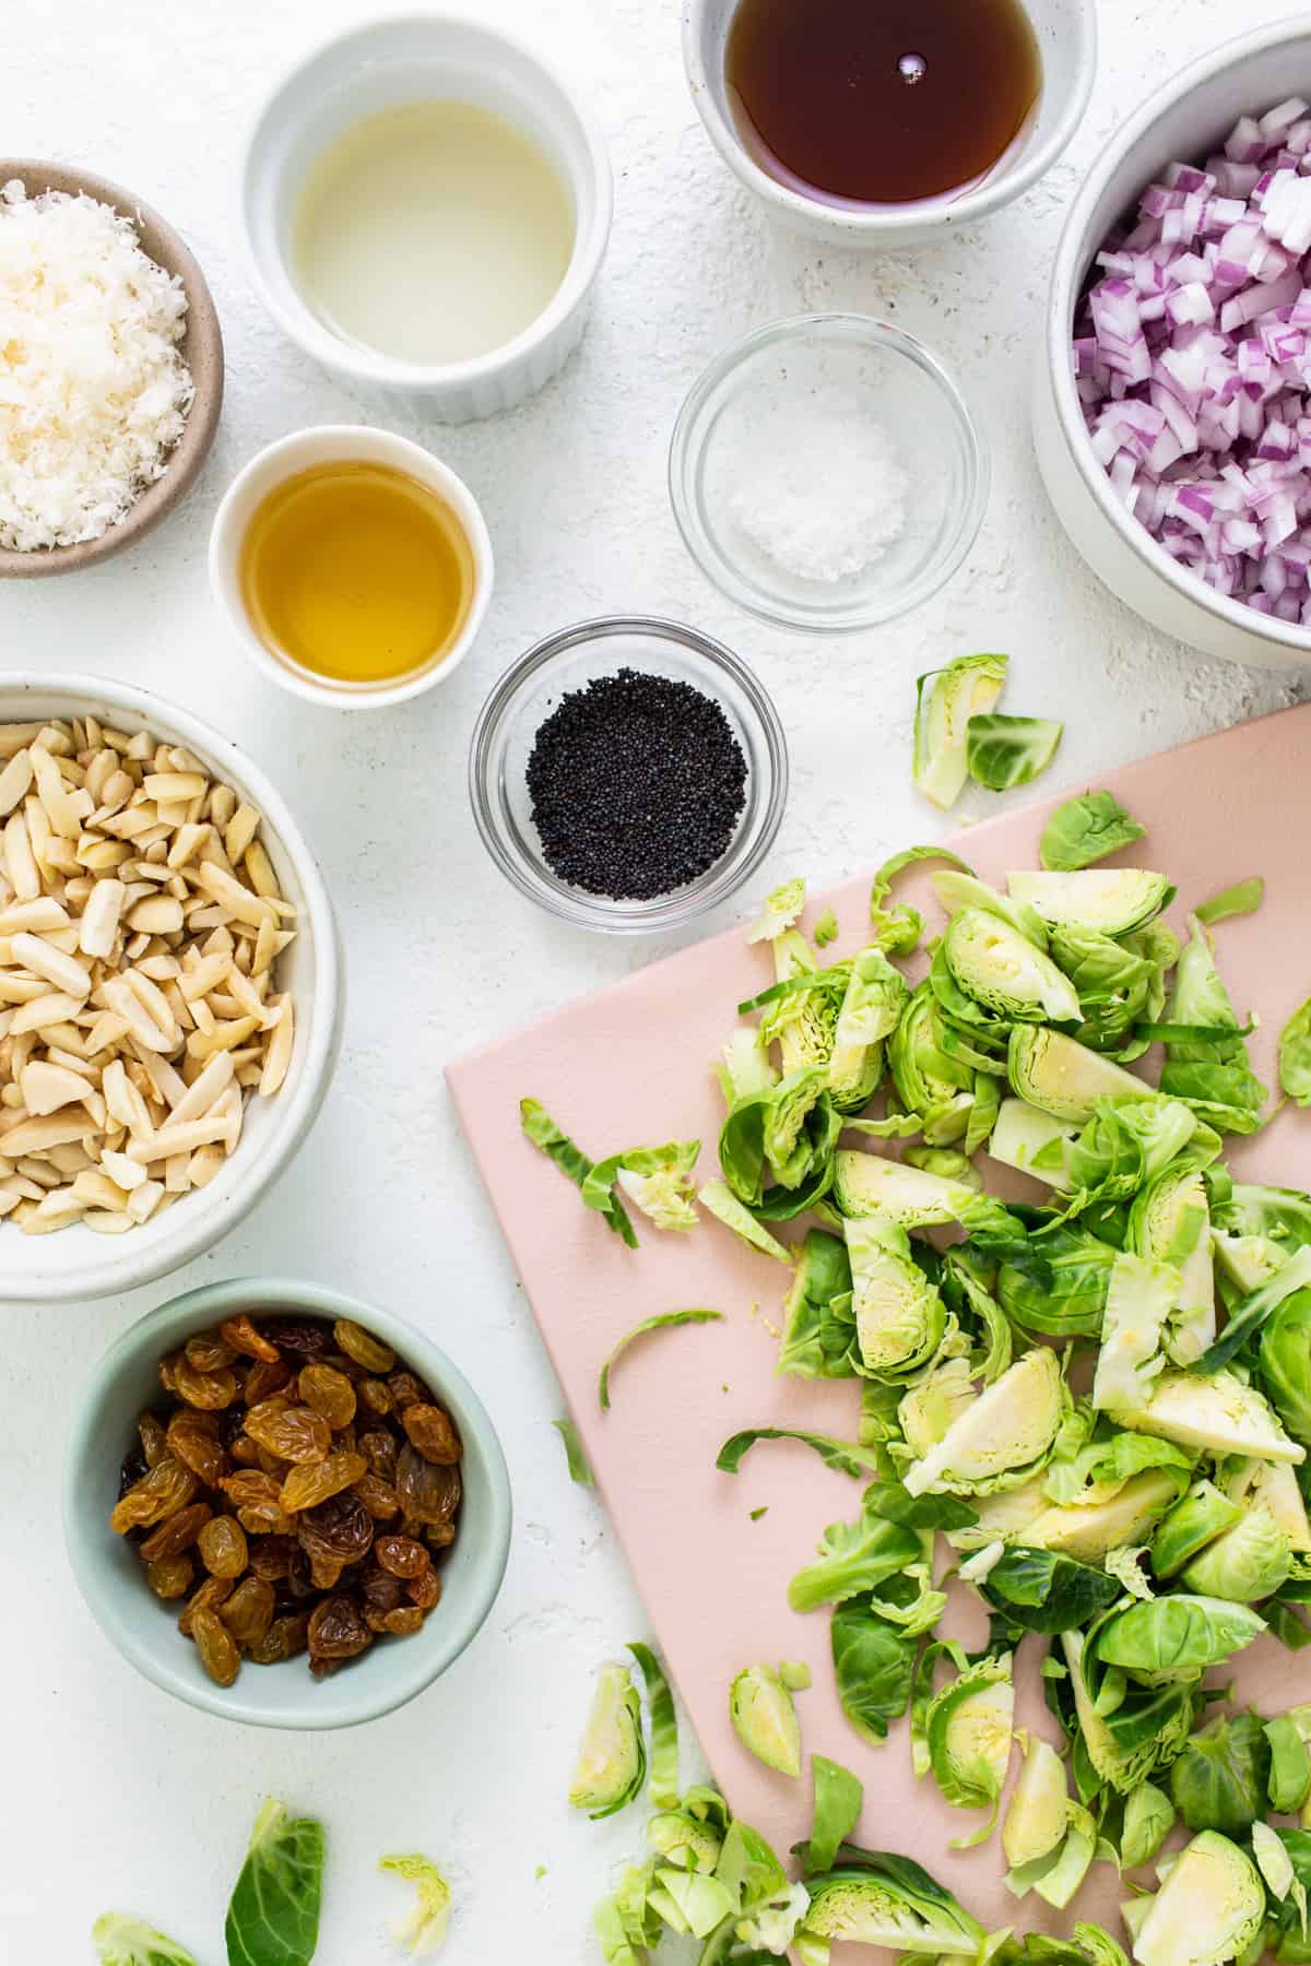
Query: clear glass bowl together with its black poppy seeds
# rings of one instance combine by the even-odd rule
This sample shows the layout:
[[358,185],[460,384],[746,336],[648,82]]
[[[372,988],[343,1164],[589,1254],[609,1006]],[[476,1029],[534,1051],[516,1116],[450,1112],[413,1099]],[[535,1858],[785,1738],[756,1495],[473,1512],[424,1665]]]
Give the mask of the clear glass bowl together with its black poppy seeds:
[[495,684],[470,751],[491,859],[566,922],[678,928],[769,853],[788,792],[778,714],[723,643],[607,615],[548,635]]

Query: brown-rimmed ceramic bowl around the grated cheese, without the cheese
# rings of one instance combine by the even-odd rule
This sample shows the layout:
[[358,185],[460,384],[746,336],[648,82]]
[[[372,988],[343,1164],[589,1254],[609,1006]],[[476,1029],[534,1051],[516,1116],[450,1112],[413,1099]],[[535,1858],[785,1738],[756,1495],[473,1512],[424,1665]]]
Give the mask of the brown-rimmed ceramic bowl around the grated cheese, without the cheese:
[[59,163],[39,163],[33,157],[0,157],[0,185],[8,185],[14,177],[22,179],[29,199],[43,191],[73,195],[85,191],[90,199],[112,204],[116,212],[134,222],[142,250],[165,273],[177,273],[187,289],[187,332],[181,340],[181,354],[197,387],[195,401],[187,411],[187,425],[169,452],[163,478],[142,492],[118,525],[112,525],[100,539],[85,539],[75,547],[37,547],[31,552],[0,547],[0,580],[41,580],[53,574],[75,574],[83,566],[94,566],[96,560],[108,560],[112,552],[122,552],[124,547],[143,539],[151,527],[159,525],[191,490],[218,429],[224,374],[222,332],[199,261],[173,226],[149,204],[142,204],[122,185],[92,177],[90,171],[69,171]]

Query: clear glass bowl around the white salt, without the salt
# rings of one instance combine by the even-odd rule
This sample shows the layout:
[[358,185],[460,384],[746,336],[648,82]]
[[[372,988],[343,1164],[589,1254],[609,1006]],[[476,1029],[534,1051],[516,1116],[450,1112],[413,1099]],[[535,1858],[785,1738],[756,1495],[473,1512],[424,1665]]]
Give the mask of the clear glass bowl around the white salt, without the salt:
[[[829,421],[867,409],[906,476],[906,525],[857,572],[804,578],[745,531],[739,488],[786,460],[798,405]],[[770,444],[770,421],[778,446]],[[810,493],[816,458],[776,480],[784,497]],[[867,315],[798,315],[725,348],[692,385],[668,452],[668,495],[692,558],[721,594],[765,621],[849,633],[892,621],[936,594],[961,564],[989,495],[989,458],[965,397],[941,362],[900,328]],[[824,486],[814,488],[816,499]]]

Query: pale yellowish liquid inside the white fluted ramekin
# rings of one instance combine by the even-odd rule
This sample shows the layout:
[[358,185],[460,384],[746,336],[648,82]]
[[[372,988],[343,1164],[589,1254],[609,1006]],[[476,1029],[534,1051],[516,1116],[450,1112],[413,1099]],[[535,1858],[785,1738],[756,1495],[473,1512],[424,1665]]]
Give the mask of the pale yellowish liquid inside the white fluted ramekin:
[[574,201],[533,138],[474,102],[393,102],[314,159],[293,214],[309,307],[395,362],[468,362],[550,307]]

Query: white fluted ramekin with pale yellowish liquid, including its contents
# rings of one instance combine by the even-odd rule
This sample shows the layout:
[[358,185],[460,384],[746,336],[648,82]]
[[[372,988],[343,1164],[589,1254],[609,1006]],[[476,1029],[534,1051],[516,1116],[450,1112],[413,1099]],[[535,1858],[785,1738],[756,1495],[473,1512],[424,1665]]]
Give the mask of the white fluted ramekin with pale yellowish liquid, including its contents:
[[242,187],[283,332],[446,423],[513,409],[564,366],[611,204],[572,87],[448,14],[370,22],[299,63],[256,122]]

